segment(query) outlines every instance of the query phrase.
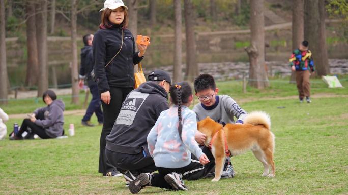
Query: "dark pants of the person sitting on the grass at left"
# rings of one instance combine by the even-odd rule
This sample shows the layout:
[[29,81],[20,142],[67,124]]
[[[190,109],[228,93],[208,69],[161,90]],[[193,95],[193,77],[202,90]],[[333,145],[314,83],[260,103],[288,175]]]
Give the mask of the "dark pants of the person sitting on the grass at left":
[[[40,119],[43,120],[44,119],[44,113],[38,113],[37,116],[35,116],[36,119]],[[30,127],[30,129],[32,130],[32,132],[28,132],[28,127]],[[24,131],[28,132],[28,133],[32,133],[32,134],[37,134],[41,139],[49,139],[52,137],[49,137],[46,134],[46,131],[43,127],[40,127],[38,125],[36,125],[35,123],[33,123],[30,119],[24,119],[22,122],[22,125],[20,126],[20,129],[18,131],[18,134],[16,135],[17,137],[22,137],[22,133],[24,133]]]

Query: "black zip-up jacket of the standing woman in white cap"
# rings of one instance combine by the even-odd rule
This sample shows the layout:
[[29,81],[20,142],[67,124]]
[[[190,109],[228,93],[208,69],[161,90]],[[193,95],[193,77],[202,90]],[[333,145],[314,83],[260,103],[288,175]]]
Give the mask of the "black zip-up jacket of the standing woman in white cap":
[[100,93],[110,87],[134,87],[134,64],[143,57],[135,51],[135,41],[128,29],[123,29],[123,46],[121,52],[112,62],[105,65],[120,50],[122,43],[122,26],[112,25],[111,28],[99,29],[93,38],[93,69]]

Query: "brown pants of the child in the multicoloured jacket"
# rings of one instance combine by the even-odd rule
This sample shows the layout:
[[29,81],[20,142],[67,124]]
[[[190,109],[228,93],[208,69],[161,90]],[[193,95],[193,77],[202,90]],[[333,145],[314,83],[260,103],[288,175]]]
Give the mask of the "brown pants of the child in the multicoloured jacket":
[[300,99],[303,99],[305,96],[310,97],[309,77],[309,70],[296,71],[296,83]]

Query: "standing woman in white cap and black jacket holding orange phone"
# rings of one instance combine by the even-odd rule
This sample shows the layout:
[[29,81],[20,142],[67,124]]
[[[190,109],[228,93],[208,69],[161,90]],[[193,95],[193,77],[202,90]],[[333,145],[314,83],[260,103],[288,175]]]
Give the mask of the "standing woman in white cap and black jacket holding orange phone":
[[99,173],[117,177],[122,174],[106,159],[105,138],[119,115],[122,102],[134,89],[134,65],[147,49],[138,45],[136,52],[132,33],[127,29],[128,8],[121,0],[106,0],[101,9],[101,24],[93,40],[93,64],[103,107],[103,129],[100,136]]

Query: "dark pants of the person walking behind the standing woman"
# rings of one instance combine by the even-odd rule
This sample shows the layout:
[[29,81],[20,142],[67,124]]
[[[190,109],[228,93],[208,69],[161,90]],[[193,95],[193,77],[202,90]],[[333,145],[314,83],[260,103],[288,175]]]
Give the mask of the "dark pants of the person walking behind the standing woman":
[[95,112],[98,122],[103,123],[103,112],[100,107],[101,101],[100,101],[100,94],[98,92],[98,85],[91,79],[89,79],[87,83],[92,94],[92,100],[90,104],[88,105],[88,108],[82,118],[82,121],[89,121],[91,119],[91,116]]

